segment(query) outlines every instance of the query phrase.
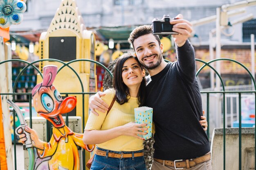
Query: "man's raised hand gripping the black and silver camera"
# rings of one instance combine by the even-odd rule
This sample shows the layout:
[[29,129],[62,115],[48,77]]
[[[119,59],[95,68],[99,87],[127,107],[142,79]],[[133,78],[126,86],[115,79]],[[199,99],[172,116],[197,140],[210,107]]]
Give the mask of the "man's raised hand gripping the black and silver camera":
[[183,46],[186,40],[191,36],[192,24],[188,20],[184,20],[182,14],[175,17],[175,20],[170,20],[173,25],[173,31],[179,34],[173,34],[173,38],[177,46]]

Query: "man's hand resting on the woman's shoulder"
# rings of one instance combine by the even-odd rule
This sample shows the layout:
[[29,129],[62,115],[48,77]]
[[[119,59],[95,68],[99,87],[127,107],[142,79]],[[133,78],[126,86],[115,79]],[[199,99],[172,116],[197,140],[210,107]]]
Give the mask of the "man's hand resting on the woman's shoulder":
[[99,114],[95,110],[98,110],[102,113],[105,113],[106,111],[108,111],[108,107],[109,107],[108,104],[106,104],[106,102],[104,102],[101,99],[101,96],[104,96],[104,95],[106,94],[99,91],[95,95],[90,97],[89,107],[91,109],[91,113],[93,113],[94,115],[99,116]]

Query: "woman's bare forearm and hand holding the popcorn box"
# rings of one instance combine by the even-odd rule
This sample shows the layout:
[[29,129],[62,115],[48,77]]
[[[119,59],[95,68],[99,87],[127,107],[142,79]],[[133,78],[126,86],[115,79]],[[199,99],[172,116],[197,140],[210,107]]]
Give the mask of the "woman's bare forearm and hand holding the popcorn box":
[[83,143],[84,144],[101,144],[103,142],[115,139],[121,135],[137,137],[138,139],[144,140],[144,138],[138,135],[146,135],[148,128],[140,128],[147,126],[147,124],[136,124],[135,122],[130,122],[123,126],[118,126],[108,130],[85,130],[83,133]]

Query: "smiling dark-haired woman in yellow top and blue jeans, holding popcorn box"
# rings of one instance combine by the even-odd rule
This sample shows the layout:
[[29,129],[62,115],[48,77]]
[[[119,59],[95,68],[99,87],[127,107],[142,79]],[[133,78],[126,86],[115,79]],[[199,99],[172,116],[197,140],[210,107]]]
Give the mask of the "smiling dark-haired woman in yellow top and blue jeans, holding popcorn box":
[[91,170],[146,170],[144,138],[138,136],[146,135],[146,124],[134,122],[134,108],[144,105],[146,87],[145,70],[137,57],[125,53],[117,60],[113,87],[101,97],[110,105],[116,95],[109,113],[90,114],[85,126],[83,142],[97,144]]

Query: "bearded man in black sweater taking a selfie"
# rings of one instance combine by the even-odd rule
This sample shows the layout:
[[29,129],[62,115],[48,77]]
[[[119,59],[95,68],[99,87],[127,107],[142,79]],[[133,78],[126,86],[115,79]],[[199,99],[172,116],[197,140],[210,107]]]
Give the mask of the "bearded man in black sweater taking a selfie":
[[[146,106],[153,108],[155,123],[151,170],[211,170],[209,140],[199,122],[202,99],[195,77],[195,53],[188,41],[192,27],[181,14],[176,18],[170,23],[179,33],[173,35],[177,62],[164,62],[163,44],[152,34],[151,26],[137,27],[128,39],[151,79],[146,86]],[[90,103],[93,112],[108,107],[99,95],[91,97]]]

